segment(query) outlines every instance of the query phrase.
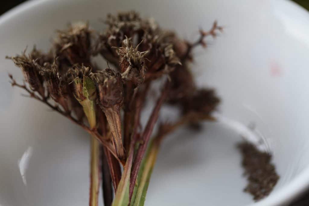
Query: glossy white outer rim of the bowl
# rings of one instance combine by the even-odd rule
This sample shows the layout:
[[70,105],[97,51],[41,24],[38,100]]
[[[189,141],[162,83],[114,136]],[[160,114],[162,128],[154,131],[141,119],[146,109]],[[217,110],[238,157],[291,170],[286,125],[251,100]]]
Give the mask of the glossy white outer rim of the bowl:
[[[72,1],[72,0],[66,0]],[[61,1],[60,3],[65,2]],[[295,10],[297,12],[301,12],[304,16],[307,15],[309,18],[309,12],[305,10],[303,7],[298,5],[291,0],[283,1],[288,6],[290,6],[291,10]],[[28,0],[19,5],[13,7],[9,11],[6,11],[4,14],[0,16],[0,27],[9,22],[13,17],[19,15],[20,13],[26,12],[27,10],[36,7],[36,6],[44,6],[47,3],[58,3],[58,1],[53,0]],[[259,202],[249,204],[248,206],[275,206],[282,204],[289,204],[292,200],[301,195],[307,188],[309,187],[309,165],[306,166],[300,174],[298,174],[294,179],[292,179],[289,183],[284,185],[282,188],[279,188],[277,191],[274,191],[271,195],[260,200]]]

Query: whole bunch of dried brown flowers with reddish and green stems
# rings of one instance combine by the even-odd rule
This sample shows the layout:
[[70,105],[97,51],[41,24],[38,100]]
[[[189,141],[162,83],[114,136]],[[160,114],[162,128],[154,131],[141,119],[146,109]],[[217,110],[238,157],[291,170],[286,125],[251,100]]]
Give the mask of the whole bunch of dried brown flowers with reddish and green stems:
[[[215,22],[209,32],[200,31],[200,38],[190,43],[134,11],[108,15],[105,23],[107,28],[100,34],[87,23],[72,24],[57,31],[50,52],[34,48],[28,55],[7,57],[22,70],[28,85],[18,84],[10,75],[11,83],[93,137],[90,205],[98,204],[100,161],[105,205],[143,205],[163,137],[178,126],[212,120],[210,113],[219,99],[214,90],[197,88],[188,63],[192,49],[205,47],[205,37],[215,37],[222,27]],[[115,68],[99,69],[92,61],[96,55]],[[142,108],[156,79],[165,83],[141,128]],[[174,123],[161,123],[150,144],[163,104],[179,108],[181,116]]]

